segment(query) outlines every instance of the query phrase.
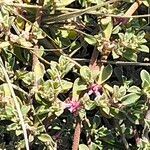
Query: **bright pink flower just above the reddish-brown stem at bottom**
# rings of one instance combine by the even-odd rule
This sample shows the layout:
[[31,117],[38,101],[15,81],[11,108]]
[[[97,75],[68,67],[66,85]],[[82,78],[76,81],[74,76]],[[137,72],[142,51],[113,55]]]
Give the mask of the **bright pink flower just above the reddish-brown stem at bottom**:
[[70,101],[69,103],[65,104],[65,108],[67,108],[71,113],[77,112],[81,107],[79,101]]

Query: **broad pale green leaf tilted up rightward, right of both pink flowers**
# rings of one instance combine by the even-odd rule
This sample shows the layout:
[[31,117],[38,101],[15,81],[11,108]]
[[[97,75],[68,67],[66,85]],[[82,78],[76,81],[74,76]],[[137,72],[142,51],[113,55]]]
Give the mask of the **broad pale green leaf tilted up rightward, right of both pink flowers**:
[[138,99],[140,98],[140,95],[136,93],[130,93],[121,98],[121,102],[123,105],[131,105],[134,104]]

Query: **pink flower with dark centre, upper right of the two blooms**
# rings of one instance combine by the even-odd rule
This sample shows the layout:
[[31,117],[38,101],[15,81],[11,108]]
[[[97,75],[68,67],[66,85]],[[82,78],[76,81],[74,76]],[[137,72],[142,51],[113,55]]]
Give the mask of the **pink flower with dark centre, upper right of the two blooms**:
[[88,95],[94,94],[96,96],[102,95],[102,87],[98,84],[92,84],[89,87]]

